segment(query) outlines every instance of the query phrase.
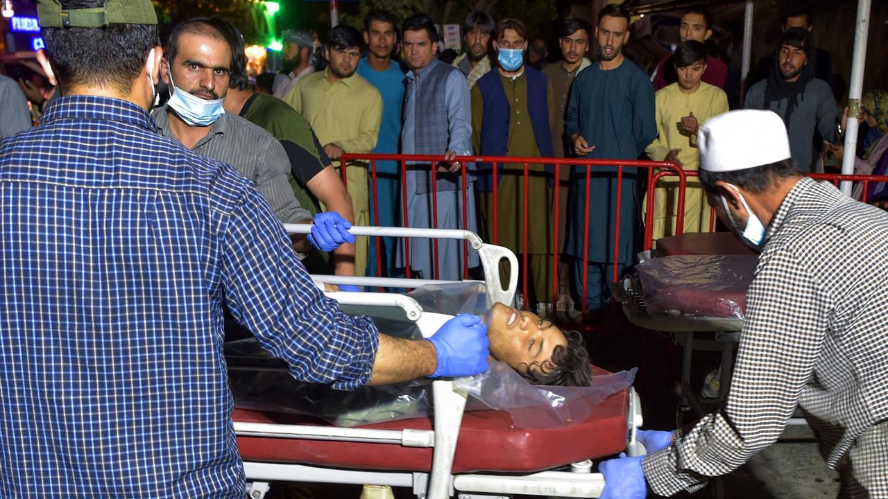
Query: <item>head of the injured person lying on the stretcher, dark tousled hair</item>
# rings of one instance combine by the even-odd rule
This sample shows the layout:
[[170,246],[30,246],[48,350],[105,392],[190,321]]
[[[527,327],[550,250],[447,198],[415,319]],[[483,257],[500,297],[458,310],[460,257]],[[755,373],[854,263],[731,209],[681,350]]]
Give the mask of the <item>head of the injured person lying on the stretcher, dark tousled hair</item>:
[[490,353],[532,384],[590,386],[589,351],[578,331],[496,304],[487,316]]

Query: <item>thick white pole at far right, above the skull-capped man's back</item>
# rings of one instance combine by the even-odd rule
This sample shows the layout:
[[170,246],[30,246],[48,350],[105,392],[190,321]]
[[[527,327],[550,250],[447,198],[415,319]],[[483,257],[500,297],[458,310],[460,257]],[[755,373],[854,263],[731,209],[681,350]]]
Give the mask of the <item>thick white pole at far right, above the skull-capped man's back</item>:
[[[870,0],[858,0],[857,23],[854,25],[854,57],[851,61],[851,84],[848,87],[848,124],[844,131],[842,173],[854,173],[854,154],[857,150],[857,110],[863,93],[863,67],[867,62]],[[842,182],[842,192],[851,195],[851,182]]]

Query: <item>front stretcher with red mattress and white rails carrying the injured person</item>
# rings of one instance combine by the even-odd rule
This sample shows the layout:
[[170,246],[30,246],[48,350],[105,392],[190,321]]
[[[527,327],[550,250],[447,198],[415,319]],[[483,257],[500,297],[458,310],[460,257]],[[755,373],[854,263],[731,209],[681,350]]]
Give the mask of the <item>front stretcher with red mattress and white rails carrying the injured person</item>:
[[[292,233],[311,226],[288,226]],[[518,262],[508,249],[485,244],[467,231],[353,227],[356,235],[460,239],[478,251],[486,281],[488,307],[511,304]],[[501,259],[510,262],[511,278],[499,282]],[[372,287],[416,288],[442,281],[315,276],[316,282]],[[398,293],[328,293],[340,305],[388,311],[410,321],[422,337],[431,337],[451,314],[434,312],[414,297]],[[372,316],[372,315],[371,315]],[[607,374],[593,368],[593,374]],[[459,380],[432,382],[433,416],[340,428],[316,418],[261,408],[235,408],[234,432],[250,483],[250,496],[263,497],[271,481],[307,481],[408,487],[422,499],[452,495],[503,497],[511,494],[598,497],[604,479],[591,473],[591,459],[626,450],[643,452],[635,440],[641,425],[638,396],[629,387],[607,397],[581,420],[570,424],[519,427],[501,410],[465,411]],[[594,384],[594,382],[593,382]],[[554,392],[555,387],[552,387]],[[553,397],[556,399],[557,397]],[[235,400],[235,406],[237,401]],[[540,421],[549,407],[525,408],[522,419]],[[533,427],[531,427],[533,426]],[[559,470],[559,471],[552,471]],[[571,471],[563,471],[571,470]]]

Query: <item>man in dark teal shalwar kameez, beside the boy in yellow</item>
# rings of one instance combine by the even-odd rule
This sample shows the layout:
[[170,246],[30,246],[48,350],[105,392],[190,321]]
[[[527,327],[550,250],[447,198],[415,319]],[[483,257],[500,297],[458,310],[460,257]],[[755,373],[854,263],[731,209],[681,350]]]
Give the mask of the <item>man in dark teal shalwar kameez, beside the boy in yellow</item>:
[[[608,4],[599,12],[595,34],[599,61],[576,76],[567,102],[565,133],[577,157],[635,160],[656,137],[657,127],[654,88],[647,75],[622,54],[622,45],[629,40],[629,12]],[[614,262],[616,168],[592,170],[588,218],[585,173],[585,167],[575,167],[571,178],[566,249],[573,258],[571,288],[576,303],[583,296],[583,276],[588,275],[586,307],[599,310],[607,297],[613,265],[622,272],[636,249],[638,174],[634,168],[622,170],[619,254]],[[587,222],[588,256],[584,251]]]

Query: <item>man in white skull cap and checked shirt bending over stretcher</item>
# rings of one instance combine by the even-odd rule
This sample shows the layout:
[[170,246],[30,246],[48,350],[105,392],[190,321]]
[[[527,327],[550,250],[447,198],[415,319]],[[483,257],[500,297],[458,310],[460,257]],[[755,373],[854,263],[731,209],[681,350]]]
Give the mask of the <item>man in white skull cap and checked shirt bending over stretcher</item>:
[[697,490],[797,408],[839,497],[888,497],[888,213],[803,177],[771,111],[711,118],[698,139],[710,205],[761,251],[727,400],[686,428],[639,431],[650,454],[601,463],[602,499]]

